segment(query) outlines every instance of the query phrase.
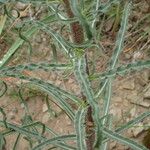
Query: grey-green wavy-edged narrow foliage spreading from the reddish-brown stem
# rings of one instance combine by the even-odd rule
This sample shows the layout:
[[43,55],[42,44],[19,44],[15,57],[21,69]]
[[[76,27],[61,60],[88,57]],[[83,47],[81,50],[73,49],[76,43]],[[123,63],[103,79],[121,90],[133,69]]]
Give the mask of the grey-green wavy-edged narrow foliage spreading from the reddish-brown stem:
[[[63,0],[0,0],[0,4],[2,4],[2,6],[10,5],[11,8],[18,1],[31,4],[32,6],[42,5],[47,12],[44,14],[44,17],[42,16],[41,18],[32,19],[29,17],[27,21],[23,22],[24,25],[21,26],[15,42],[10,46],[7,53],[0,60],[0,78],[2,79],[0,96],[3,96],[7,91],[7,80],[4,82],[3,79],[12,77],[21,81],[26,81],[25,84],[36,86],[40,91],[44,91],[47,95],[49,95],[49,97],[54,99],[55,103],[59,105],[59,107],[71,119],[74,124],[75,133],[59,135],[53,131],[53,129],[48,128],[45,124],[34,121],[29,111],[30,108],[24,100],[23,90],[20,88],[18,95],[21,103],[25,106],[25,116],[22,120],[22,124],[16,125],[7,121],[7,114],[2,108],[0,108],[0,113],[2,114],[0,127],[3,128],[0,132],[0,149],[3,149],[3,146],[7,143],[5,137],[11,134],[16,134],[17,136],[13,149],[17,149],[18,143],[21,138],[24,137],[29,142],[29,145],[33,150],[40,150],[49,146],[51,146],[50,149],[60,148],[64,150],[86,150],[86,140],[88,138],[88,135],[86,135],[86,118],[88,108],[90,106],[92,108],[91,116],[93,118],[93,129],[95,131],[93,150],[107,149],[107,144],[110,139],[116,140],[117,142],[127,145],[135,150],[147,150],[147,148],[143,145],[140,145],[129,138],[123,137],[120,133],[131,128],[144,118],[149,117],[150,112],[145,112],[137,118],[129,121],[127,124],[123,124],[114,130],[111,129],[111,121],[109,117],[114,77],[118,75],[123,76],[133,70],[140,71],[144,68],[150,68],[150,60],[138,61],[116,67],[118,66],[117,63],[119,55],[124,47],[131,2],[126,2],[124,6],[120,30],[117,35],[113,54],[110,58],[108,70],[100,73],[95,72],[90,75],[87,70],[87,66],[89,65],[86,60],[86,54],[88,53],[88,49],[92,49],[93,47],[98,49],[100,48],[98,44],[99,37],[96,36],[96,32],[98,32],[96,22],[99,20],[101,15],[105,15],[105,13],[109,11],[109,8],[111,8],[112,5],[118,4],[120,1],[113,0],[102,3],[99,0],[71,0],[70,4],[72,12],[74,13],[74,18],[66,17]],[[5,9],[7,11],[7,7],[5,7]],[[4,12],[6,13],[6,11]],[[8,17],[5,17],[7,15]],[[5,26],[7,25],[7,21],[10,21],[9,19],[11,20],[11,16],[6,13],[2,23],[0,23],[0,35],[3,35],[3,32],[5,31],[4,28],[7,28]],[[69,31],[69,33],[71,33],[70,25],[74,22],[79,22],[85,32],[86,36],[82,44],[73,43],[72,40],[69,41],[69,38],[66,38],[62,32],[56,32],[54,29],[55,26],[59,29],[66,27],[66,32]],[[39,30],[49,35],[53,41],[51,47],[53,51],[52,60],[54,60],[54,63],[44,61],[30,64],[18,64],[14,66],[8,65],[11,63],[13,56],[16,53],[19,53],[18,49],[22,47],[24,42],[27,42],[30,50],[32,49],[32,51],[34,51],[31,39],[33,34]],[[67,56],[65,57],[67,58],[67,63],[59,62],[58,55],[61,52],[63,52],[64,57]],[[70,71],[71,73],[74,72],[76,81],[80,86],[79,90],[81,90],[85,99],[56,86],[52,83],[52,81],[24,75],[24,71],[32,72],[36,70],[43,70],[46,73],[49,71],[56,71],[58,73],[63,71]],[[98,92],[95,92],[92,87],[93,80],[96,79],[100,79],[103,83],[98,88]],[[22,85],[20,85],[20,87],[21,86]],[[104,94],[102,95],[102,93]],[[98,101],[100,96],[103,97],[104,100],[101,105]],[[50,110],[48,99],[46,100],[46,103]],[[72,105],[75,105],[75,108],[77,109],[73,108]],[[46,134],[49,136],[46,136]],[[68,141],[72,141],[76,144],[71,145]]]

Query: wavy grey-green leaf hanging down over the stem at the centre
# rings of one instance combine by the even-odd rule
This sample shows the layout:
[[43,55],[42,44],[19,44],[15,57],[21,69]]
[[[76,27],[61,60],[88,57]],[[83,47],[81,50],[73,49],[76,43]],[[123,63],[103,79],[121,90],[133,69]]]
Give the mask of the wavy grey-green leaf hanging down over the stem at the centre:
[[[74,64],[74,72],[75,76],[77,78],[78,83],[80,84],[81,90],[83,91],[83,94],[86,96],[87,103],[92,107],[92,116],[93,120],[95,122],[95,133],[96,133],[96,143],[100,142],[99,138],[101,135],[100,133],[100,123],[99,123],[99,106],[98,103],[95,100],[93,89],[91,88],[91,84],[89,82],[87,73],[86,73],[86,61],[85,56],[81,56],[81,58],[78,58],[75,61]],[[100,146],[97,144],[97,146]]]

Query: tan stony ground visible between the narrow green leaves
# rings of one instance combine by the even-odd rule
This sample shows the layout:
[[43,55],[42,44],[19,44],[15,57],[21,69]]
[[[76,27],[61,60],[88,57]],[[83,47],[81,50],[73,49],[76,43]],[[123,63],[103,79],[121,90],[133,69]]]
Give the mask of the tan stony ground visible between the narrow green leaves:
[[[143,2],[143,1],[142,1]],[[136,25],[137,20],[142,18],[145,15],[145,10],[147,10],[148,6],[146,2],[141,5],[140,2],[137,1],[135,8],[133,9],[133,14],[131,15],[131,21],[129,22],[129,27],[131,30]],[[141,8],[139,6],[142,6]],[[16,7],[20,10],[25,9],[24,4],[17,4]],[[140,11],[139,11],[140,10]],[[42,8],[35,9],[34,11],[40,14]],[[37,13],[37,15],[38,15]],[[30,13],[31,14],[31,13]],[[15,12],[14,14],[15,15]],[[27,15],[28,14],[24,14]],[[25,16],[26,17],[26,16]],[[112,23],[111,23],[112,22]],[[144,28],[139,26],[137,30],[144,33],[145,30],[149,27],[148,25],[149,20],[144,20]],[[115,33],[112,34],[110,32],[113,21],[108,20],[105,25],[104,33],[107,33],[107,36],[104,36],[101,44],[105,48],[106,58],[103,61],[102,57],[97,58],[97,68],[99,72],[105,69],[105,64],[109,59],[109,50],[110,47],[114,46],[115,40]],[[129,62],[133,62],[136,60],[141,59],[149,59],[149,36],[146,39],[143,36],[136,33],[135,30],[133,33],[131,30],[127,33],[126,46],[124,51],[120,57],[120,63],[126,64]],[[147,32],[147,30],[146,30]],[[149,34],[149,32],[148,32]],[[113,36],[108,36],[113,35]],[[134,37],[132,37],[134,36]],[[111,37],[111,38],[110,38]],[[137,44],[133,44],[137,43]],[[32,54],[32,62],[38,62],[44,59],[44,61],[52,62],[53,60],[49,57],[52,55],[50,39],[47,34],[44,34],[39,31],[36,35],[34,35],[32,40],[33,51]],[[131,46],[132,45],[132,46]],[[7,45],[4,45],[7,50]],[[9,45],[8,45],[9,47]],[[92,53],[89,55],[92,55]],[[27,61],[27,56],[24,55],[24,48],[22,51],[14,57],[12,60],[12,64],[25,63]],[[65,58],[60,53],[58,54],[58,60],[61,59],[61,62],[65,62]],[[31,76],[40,77],[41,79],[46,79],[52,81],[54,84],[63,87],[64,89],[68,89],[69,91],[75,93],[76,95],[80,95],[79,87],[76,84],[76,81],[73,75],[67,76],[58,73],[58,72],[28,72]],[[15,84],[17,82],[17,84]],[[25,114],[25,106],[23,103],[20,102],[20,98],[17,96],[18,93],[18,84],[21,81],[12,80],[8,81],[9,88],[3,97],[0,98],[0,106],[4,109],[5,113],[7,114],[7,120],[15,123],[20,124],[21,119]],[[50,109],[48,109],[46,104],[46,97],[45,94],[38,91],[37,89],[25,91],[26,94],[25,100],[29,107],[29,112],[33,116],[34,120],[41,121],[42,123],[46,124],[47,126],[53,128],[56,132],[60,134],[64,133],[72,133],[74,131],[73,124],[70,119],[66,116],[66,114],[54,103],[53,99],[49,97],[50,101]],[[38,94],[37,94],[38,92]],[[113,83],[113,95],[111,101],[110,112],[113,115],[112,125],[113,127],[119,126],[123,123],[128,122],[129,120],[135,118],[139,114],[145,111],[150,110],[150,69],[145,69],[139,72],[132,72],[131,74],[125,75],[124,77],[117,77]],[[0,116],[2,118],[2,115]],[[127,137],[133,138],[141,143],[143,143],[143,139],[146,135],[148,135],[148,129],[150,126],[150,119],[143,120],[136,126],[129,129],[127,132],[124,133]],[[149,137],[150,138],[150,137]],[[14,142],[13,136],[8,136],[7,140],[7,150],[11,150],[12,143]],[[21,150],[28,150],[28,142],[25,139],[21,140],[20,147]],[[109,150],[128,150],[129,148],[118,144],[117,142],[110,141],[109,142]]]

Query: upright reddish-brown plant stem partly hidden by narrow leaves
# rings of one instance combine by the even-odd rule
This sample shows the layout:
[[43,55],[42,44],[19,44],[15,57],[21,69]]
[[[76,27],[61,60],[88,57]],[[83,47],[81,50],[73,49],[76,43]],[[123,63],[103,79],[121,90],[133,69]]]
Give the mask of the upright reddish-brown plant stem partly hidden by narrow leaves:
[[[65,9],[69,18],[73,18],[74,14],[71,10],[69,0],[63,0],[65,4]],[[83,27],[80,25],[79,21],[71,23],[71,30],[72,30],[72,37],[76,44],[82,44],[84,42],[84,30]],[[86,58],[86,73],[89,75],[89,67],[87,63],[87,55],[85,54]],[[82,93],[82,99],[86,102],[86,97]],[[95,132],[94,132],[94,121],[92,117],[92,108],[91,106],[88,107],[86,120],[86,147],[87,150],[94,150],[94,141],[95,141]]]

